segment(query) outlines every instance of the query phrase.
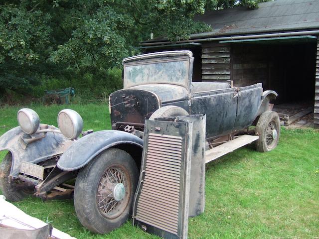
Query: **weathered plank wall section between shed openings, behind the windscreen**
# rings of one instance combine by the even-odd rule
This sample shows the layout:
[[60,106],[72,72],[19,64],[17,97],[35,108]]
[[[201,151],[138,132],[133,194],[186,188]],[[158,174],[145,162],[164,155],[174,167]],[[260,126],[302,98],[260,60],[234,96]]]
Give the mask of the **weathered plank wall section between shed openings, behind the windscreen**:
[[203,43],[201,72],[202,81],[230,80],[230,45]]

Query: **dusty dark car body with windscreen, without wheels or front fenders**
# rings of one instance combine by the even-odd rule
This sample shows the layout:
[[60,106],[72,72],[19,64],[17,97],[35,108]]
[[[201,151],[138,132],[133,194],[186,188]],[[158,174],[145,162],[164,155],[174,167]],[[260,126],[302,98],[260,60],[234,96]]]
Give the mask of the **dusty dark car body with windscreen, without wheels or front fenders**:
[[177,106],[189,115],[205,114],[210,139],[251,125],[277,97],[274,91],[263,92],[262,84],[236,88],[227,82],[191,82],[189,51],[151,53],[123,63],[124,89],[110,96],[113,129],[129,124],[142,130],[156,110]]

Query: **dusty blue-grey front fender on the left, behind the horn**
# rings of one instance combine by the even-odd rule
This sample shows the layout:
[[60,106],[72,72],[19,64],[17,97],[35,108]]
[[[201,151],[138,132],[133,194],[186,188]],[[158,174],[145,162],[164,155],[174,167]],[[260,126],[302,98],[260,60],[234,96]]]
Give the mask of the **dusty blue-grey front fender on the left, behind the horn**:
[[[50,126],[52,129],[58,129]],[[44,135],[41,133],[41,135]],[[37,136],[37,133],[32,135]],[[30,135],[23,132],[20,126],[12,128],[1,135],[0,151],[8,150],[12,154],[12,165],[10,176],[16,178],[20,172],[22,162],[39,163],[52,158],[55,155],[62,154],[72,143],[57,132],[47,132],[46,136],[29,143],[27,146],[23,143],[23,138],[30,138]]]

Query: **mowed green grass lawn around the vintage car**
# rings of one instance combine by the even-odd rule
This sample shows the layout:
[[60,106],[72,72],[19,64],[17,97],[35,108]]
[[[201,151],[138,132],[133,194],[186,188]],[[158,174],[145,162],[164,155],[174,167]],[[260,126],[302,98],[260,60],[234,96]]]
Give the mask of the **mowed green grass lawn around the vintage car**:
[[[84,129],[110,129],[108,106],[70,105]],[[65,106],[30,106],[41,122],[57,125]],[[0,108],[0,135],[17,126],[19,108]],[[0,160],[5,152],[0,152]],[[94,235],[77,220],[72,200],[29,197],[14,203],[78,239],[157,238],[128,221],[108,235]],[[206,165],[205,212],[189,220],[188,238],[319,238],[319,131],[282,128],[278,147],[259,153],[246,146]]]

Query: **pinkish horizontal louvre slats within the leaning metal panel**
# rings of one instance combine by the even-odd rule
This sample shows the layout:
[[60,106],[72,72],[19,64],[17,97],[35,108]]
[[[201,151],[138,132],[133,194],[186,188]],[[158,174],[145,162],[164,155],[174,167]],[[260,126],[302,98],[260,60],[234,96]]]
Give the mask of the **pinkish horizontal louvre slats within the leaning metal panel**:
[[136,219],[178,233],[182,138],[150,133]]

